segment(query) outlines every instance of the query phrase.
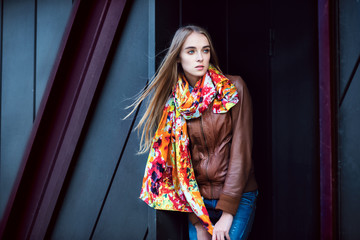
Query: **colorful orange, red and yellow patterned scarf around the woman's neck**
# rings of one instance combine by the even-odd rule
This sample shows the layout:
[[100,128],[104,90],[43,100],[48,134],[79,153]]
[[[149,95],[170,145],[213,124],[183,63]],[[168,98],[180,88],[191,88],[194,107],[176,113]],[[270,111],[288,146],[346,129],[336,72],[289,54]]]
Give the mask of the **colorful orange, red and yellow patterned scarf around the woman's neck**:
[[238,101],[235,86],[213,66],[191,93],[179,76],[152,141],[140,199],[155,209],[194,212],[212,234],[191,163],[186,120],[200,117],[211,102],[214,113],[225,113]]

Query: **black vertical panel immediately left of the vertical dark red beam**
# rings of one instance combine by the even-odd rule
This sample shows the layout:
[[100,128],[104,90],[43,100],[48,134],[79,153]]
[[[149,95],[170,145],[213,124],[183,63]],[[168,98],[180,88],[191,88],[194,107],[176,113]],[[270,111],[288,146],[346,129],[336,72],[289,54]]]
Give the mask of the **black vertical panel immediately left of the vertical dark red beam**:
[[319,239],[317,4],[273,9],[273,239]]

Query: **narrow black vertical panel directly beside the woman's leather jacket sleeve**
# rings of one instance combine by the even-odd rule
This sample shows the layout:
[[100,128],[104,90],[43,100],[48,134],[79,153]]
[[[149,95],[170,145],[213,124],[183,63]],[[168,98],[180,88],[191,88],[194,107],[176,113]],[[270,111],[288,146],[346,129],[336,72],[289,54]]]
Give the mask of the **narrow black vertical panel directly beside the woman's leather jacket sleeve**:
[[229,0],[229,74],[240,75],[253,103],[253,154],[259,197],[250,239],[272,235],[270,1]]

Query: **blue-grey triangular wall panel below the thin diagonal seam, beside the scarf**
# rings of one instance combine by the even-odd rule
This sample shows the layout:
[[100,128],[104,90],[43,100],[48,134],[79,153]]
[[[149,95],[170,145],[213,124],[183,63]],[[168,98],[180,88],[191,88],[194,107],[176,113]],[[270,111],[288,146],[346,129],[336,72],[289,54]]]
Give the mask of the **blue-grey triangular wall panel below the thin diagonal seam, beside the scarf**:
[[121,158],[94,239],[143,239],[147,227],[146,203],[139,199],[146,156],[135,155],[139,139],[133,132]]

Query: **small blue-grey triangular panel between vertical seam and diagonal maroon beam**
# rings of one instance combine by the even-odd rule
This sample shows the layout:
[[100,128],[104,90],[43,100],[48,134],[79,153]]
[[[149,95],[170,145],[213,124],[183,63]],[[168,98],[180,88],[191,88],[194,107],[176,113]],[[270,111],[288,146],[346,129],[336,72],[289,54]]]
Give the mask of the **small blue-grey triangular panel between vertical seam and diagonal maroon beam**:
[[54,65],[71,8],[72,0],[37,0],[36,111]]

